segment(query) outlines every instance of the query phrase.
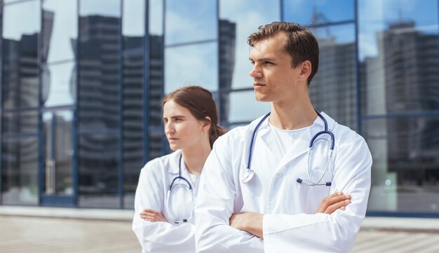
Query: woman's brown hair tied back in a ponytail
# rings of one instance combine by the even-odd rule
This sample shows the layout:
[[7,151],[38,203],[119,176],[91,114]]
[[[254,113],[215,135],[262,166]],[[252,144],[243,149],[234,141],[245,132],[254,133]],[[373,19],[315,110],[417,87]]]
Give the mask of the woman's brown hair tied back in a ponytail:
[[210,147],[226,130],[218,125],[218,111],[212,93],[201,86],[186,86],[169,93],[162,102],[173,100],[180,106],[188,109],[198,121],[207,121],[210,118],[209,142]]

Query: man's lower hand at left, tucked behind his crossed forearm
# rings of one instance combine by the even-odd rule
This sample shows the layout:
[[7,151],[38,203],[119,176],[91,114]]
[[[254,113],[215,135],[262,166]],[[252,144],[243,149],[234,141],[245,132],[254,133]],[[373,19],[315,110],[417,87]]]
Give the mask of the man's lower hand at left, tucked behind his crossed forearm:
[[264,238],[262,233],[262,219],[264,214],[257,212],[244,212],[242,214],[231,214],[230,226],[242,231],[247,231],[259,238]]

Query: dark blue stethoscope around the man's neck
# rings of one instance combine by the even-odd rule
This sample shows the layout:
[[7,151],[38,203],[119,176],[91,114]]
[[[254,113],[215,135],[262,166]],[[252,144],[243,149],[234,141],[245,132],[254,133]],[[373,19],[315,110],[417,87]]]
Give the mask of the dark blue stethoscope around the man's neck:
[[[316,109],[314,109],[314,111],[316,111]],[[323,117],[318,111],[316,111],[317,115],[319,118],[322,119],[323,123],[325,123],[325,130],[320,131],[318,133],[316,133],[316,135],[314,135],[311,138],[311,142],[309,142],[309,149],[308,149],[308,168],[307,168],[307,175],[308,175],[308,179],[309,179],[309,183],[304,182],[303,179],[301,178],[297,178],[296,182],[299,184],[306,184],[309,186],[318,186],[318,185],[324,185],[324,186],[331,186],[332,183],[331,182],[325,182],[325,183],[320,183],[323,179],[323,176],[325,175],[327,168],[329,167],[330,164],[330,160],[332,158],[332,151],[334,151],[334,146],[335,146],[335,138],[334,138],[334,134],[330,131],[327,130],[327,121],[325,119],[325,117]],[[252,180],[252,178],[255,176],[255,171],[250,169],[250,163],[251,163],[251,159],[252,159],[252,149],[253,149],[253,142],[255,142],[255,135],[257,130],[259,129],[259,127],[262,125],[262,122],[264,122],[266,120],[266,118],[268,118],[268,116],[270,116],[270,113],[266,114],[261,121],[259,121],[259,123],[257,123],[256,128],[252,131],[252,137],[250,139],[250,146],[248,148],[248,162],[247,162],[247,171],[245,172],[245,175],[242,179],[241,182],[243,182],[243,184],[247,184],[248,182],[250,182],[250,180]],[[325,166],[325,170],[323,171],[322,176],[318,179],[318,181],[313,181],[311,179],[311,169],[310,169],[310,157],[311,157],[311,153],[312,153],[312,148],[313,148],[313,144],[314,141],[317,139],[317,137],[319,137],[320,135],[330,135],[331,137],[331,146],[330,146],[330,156],[327,159],[327,163]]]

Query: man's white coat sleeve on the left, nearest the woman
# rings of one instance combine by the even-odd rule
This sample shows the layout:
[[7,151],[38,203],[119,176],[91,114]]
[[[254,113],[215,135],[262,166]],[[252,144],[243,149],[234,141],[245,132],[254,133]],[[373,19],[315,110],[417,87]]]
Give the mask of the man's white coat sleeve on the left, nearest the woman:
[[236,187],[231,145],[220,137],[206,160],[196,205],[196,252],[264,252],[261,238],[229,226]]

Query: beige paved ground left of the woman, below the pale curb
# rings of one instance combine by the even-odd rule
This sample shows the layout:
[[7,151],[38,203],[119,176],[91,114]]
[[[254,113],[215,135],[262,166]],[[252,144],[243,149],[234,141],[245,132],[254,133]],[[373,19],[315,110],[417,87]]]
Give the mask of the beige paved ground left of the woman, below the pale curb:
[[1,253],[140,253],[130,221],[0,216]]

